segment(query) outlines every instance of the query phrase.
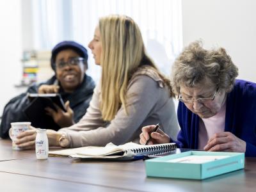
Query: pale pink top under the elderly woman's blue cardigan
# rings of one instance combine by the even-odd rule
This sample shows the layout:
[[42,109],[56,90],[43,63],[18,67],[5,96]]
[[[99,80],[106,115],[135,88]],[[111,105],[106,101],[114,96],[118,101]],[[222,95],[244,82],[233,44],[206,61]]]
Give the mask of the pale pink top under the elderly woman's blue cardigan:
[[226,102],[220,111],[210,118],[200,118],[198,132],[198,149],[204,149],[209,138],[225,129]]

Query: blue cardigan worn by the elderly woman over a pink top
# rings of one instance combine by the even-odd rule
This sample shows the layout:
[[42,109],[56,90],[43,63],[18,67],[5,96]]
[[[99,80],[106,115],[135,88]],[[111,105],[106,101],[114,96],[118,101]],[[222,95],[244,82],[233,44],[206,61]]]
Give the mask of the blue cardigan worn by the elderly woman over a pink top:
[[[198,148],[200,117],[179,102],[178,120],[180,132],[177,136],[179,148]],[[232,92],[227,94],[225,131],[232,132],[246,141],[245,156],[256,157],[256,84],[236,80]],[[171,139],[171,142],[172,139]]]

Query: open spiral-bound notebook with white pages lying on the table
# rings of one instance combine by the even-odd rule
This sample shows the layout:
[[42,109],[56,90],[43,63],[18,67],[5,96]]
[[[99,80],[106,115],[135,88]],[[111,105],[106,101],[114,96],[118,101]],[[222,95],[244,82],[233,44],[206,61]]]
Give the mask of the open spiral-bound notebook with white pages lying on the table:
[[105,147],[79,147],[64,150],[50,151],[51,156],[70,156],[83,159],[143,159],[154,154],[163,154],[175,150],[175,143],[158,145],[139,145],[137,143],[125,143],[114,145],[108,143]]

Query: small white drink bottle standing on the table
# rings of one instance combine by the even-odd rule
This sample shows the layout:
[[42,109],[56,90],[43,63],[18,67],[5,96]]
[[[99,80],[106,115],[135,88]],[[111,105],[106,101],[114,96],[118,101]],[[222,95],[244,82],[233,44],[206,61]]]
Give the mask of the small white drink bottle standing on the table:
[[46,129],[36,129],[36,158],[48,159],[49,145]]

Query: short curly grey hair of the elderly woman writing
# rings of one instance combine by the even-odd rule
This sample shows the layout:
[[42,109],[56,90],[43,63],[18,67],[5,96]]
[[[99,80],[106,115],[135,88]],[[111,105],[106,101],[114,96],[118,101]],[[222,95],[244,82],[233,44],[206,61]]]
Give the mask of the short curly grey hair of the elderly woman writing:
[[171,84],[173,93],[178,95],[181,85],[193,88],[208,78],[228,93],[237,76],[238,68],[224,48],[206,50],[201,41],[195,41],[185,47],[176,58],[172,67]]

